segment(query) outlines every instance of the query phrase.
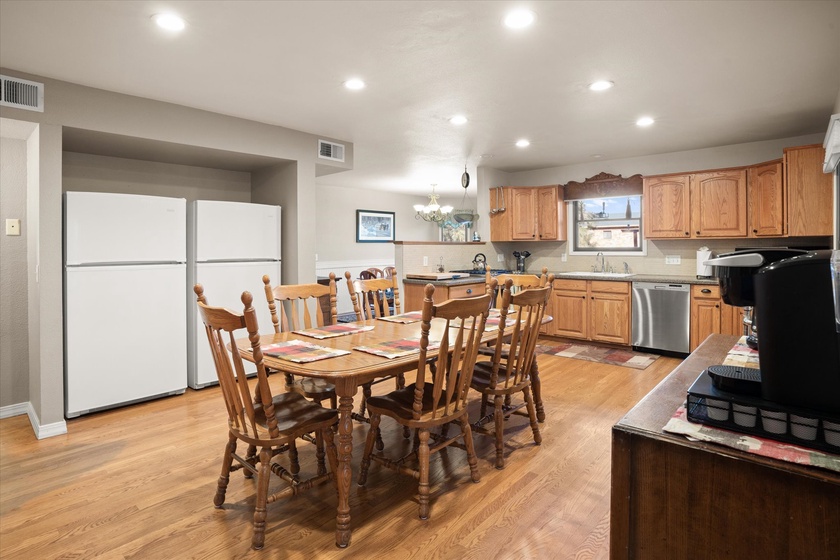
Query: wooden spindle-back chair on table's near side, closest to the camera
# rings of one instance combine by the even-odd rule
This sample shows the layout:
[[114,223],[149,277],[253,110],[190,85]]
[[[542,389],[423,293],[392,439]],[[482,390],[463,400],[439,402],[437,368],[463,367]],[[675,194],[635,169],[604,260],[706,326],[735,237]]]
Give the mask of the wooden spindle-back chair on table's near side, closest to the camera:
[[[435,304],[434,292],[434,286],[427,284],[424,291],[423,318],[420,323],[420,357],[416,382],[387,395],[368,399],[370,429],[359,473],[359,485],[364,486],[371,460],[375,460],[397,472],[414,476],[419,480],[421,519],[429,517],[431,453],[462,439],[472,480],[480,480],[467,416],[467,396],[491,301],[490,295],[484,294]],[[429,331],[432,319],[435,318],[442,319],[445,325],[439,331],[442,333],[440,346],[430,349]],[[454,348],[451,353],[450,346]],[[432,357],[436,358],[437,364],[434,373],[427,363]],[[373,453],[383,415],[393,418],[406,428],[417,430],[412,453],[398,460]],[[460,434],[454,437],[444,435],[443,427],[450,422],[460,425]],[[430,444],[431,430],[434,428],[441,428],[441,434]],[[415,461],[416,468],[412,465]]]

